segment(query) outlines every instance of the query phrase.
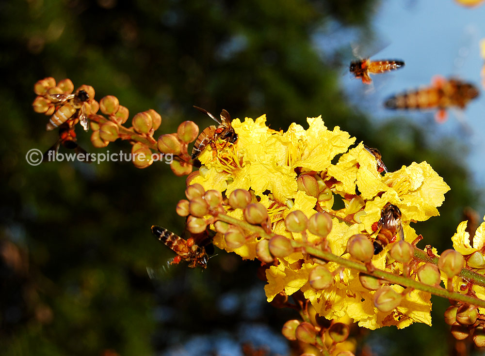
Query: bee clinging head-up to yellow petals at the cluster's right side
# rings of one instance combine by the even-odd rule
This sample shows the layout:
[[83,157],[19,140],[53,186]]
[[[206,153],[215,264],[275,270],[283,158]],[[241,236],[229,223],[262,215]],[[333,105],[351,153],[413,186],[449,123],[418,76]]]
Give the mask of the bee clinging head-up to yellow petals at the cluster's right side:
[[374,240],[374,255],[380,253],[388,244],[396,241],[396,235],[404,241],[401,210],[387,203],[381,210],[381,218],[377,222],[377,236]]

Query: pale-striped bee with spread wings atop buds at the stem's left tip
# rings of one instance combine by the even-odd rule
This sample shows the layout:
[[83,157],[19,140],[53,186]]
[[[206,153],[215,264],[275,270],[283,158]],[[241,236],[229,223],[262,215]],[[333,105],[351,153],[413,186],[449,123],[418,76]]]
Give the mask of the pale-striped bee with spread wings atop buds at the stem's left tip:
[[[79,119],[84,131],[88,130],[86,105],[89,100],[89,94],[85,90],[81,89],[74,94],[49,94],[47,97],[52,104],[59,107],[50,117],[49,123],[47,123],[47,131],[51,131],[73,118]],[[76,113],[77,117],[75,117]]]

